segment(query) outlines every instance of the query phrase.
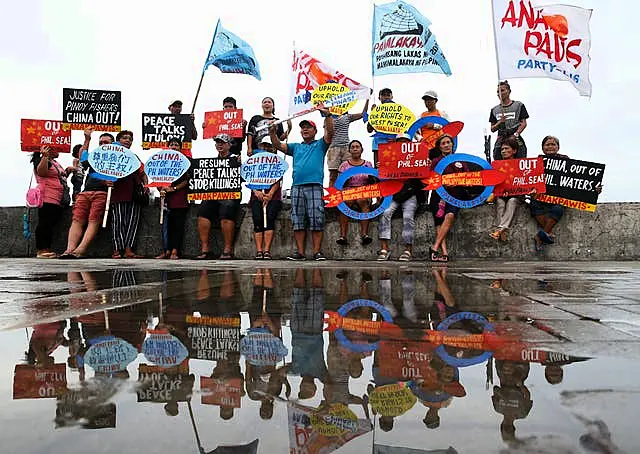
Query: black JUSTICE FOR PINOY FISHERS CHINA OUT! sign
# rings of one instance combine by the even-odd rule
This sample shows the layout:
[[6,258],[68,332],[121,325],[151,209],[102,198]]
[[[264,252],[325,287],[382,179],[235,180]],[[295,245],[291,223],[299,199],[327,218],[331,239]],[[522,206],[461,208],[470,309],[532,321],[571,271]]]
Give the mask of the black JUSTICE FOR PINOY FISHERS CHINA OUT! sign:
[[71,129],[118,132],[121,113],[119,91],[62,89],[62,121]]

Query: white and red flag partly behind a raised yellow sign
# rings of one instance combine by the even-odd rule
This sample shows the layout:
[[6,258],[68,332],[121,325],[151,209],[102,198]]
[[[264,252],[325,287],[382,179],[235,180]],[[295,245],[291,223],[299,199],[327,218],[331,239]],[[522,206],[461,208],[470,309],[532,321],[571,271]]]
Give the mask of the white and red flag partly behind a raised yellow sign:
[[[354,99],[367,99],[371,90],[341,72],[325,65],[306,52],[294,49],[293,73],[291,78],[291,94],[289,98],[289,115],[294,115],[314,107],[311,96],[313,91],[327,82],[344,85],[355,92]],[[353,99],[341,101],[351,102]]]

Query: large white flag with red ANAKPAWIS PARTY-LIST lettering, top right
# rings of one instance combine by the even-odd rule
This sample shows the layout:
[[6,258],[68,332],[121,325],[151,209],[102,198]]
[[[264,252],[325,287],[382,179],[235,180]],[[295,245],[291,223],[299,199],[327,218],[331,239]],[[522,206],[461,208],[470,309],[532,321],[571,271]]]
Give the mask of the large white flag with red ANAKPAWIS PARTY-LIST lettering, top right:
[[525,0],[492,0],[498,76],[569,81],[591,96],[590,9],[569,5],[534,8]]

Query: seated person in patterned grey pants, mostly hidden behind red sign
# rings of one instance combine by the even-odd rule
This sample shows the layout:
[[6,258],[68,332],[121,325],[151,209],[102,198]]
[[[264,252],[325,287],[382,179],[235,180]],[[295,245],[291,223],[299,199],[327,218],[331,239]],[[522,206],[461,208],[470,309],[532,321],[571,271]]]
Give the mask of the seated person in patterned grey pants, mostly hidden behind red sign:
[[[398,134],[396,142],[411,142],[411,138],[407,134]],[[378,260],[389,260],[391,250],[389,249],[389,240],[391,240],[391,218],[398,208],[402,208],[402,241],[404,241],[404,252],[400,254],[398,260],[401,262],[411,261],[411,253],[413,249],[413,238],[416,229],[416,210],[418,203],[424,202],[424,185],[418,179],[410,179],[404,182],[402,189],[393,195],[391,206],[387,208],[378,226],[381,249],[378,252]]]

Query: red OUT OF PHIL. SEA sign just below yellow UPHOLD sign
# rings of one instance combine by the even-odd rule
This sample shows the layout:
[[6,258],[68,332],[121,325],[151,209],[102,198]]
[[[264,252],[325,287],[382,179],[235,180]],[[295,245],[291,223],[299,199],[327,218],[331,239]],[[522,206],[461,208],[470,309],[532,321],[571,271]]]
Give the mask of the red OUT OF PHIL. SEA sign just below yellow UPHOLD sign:
[[378,172],[383,180],[428,178],[431,175],[428,165],[429,149],[424,142],[381,143],[378,152]]

